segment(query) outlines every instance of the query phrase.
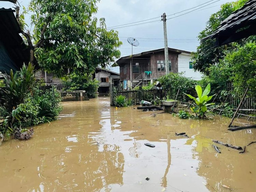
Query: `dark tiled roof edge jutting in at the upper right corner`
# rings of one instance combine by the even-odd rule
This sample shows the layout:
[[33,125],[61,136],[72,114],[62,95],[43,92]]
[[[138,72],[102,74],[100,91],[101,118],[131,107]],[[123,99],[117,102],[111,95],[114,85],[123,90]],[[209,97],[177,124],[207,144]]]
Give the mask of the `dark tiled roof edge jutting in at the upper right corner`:
[[204,38],[216,38],[217,46],[238,41],[256,34],[256,0],[249,0],[219,25],[217,30]]

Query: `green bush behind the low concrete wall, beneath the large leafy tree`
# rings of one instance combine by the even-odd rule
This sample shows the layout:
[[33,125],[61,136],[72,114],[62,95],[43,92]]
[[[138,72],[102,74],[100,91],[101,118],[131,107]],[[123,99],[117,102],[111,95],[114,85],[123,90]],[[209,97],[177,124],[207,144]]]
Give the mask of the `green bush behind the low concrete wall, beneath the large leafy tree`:
[[92,80],[91,75],[72,72],[63,80],[63,84],[67,90],[84,90],[89,98],[97,97],[99,82],[96,79]]

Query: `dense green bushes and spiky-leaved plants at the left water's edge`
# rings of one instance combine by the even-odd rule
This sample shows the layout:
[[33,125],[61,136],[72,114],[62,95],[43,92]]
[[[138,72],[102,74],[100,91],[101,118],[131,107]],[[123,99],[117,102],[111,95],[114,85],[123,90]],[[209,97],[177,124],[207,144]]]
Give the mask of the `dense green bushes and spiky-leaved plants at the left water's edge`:
[[5,78],[0,132],[6,137],[17,129],[52,121],[62,110],[59,93],[40,90],[33,69],[31,64],[24,65],[20,72],[13,74],[11,71],[10,78]]

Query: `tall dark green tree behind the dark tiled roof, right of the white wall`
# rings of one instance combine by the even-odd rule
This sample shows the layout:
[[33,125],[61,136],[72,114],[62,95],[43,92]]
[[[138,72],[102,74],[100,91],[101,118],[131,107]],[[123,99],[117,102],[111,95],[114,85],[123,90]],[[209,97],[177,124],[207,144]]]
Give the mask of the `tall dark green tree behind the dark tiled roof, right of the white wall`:
[[[197,51],[192,53],[195,70],[209,74],[209,68],[223,59],[225,51],[232,50],[234,47],[232,44],[228,44],[221,47],[215,46],[214,39],[203,40],[203,38],[211,35],[216,31],[218,26],[223,20],[225,20],[232,12],[240,9],[248,0],[238,0],[236,2],[225,3],[221,6],[221,10],[211,15],[209,21],[207,21],[206,28],[198,35],[200,45],[197,47]],[[243,43],[243,41],[241,42]]]

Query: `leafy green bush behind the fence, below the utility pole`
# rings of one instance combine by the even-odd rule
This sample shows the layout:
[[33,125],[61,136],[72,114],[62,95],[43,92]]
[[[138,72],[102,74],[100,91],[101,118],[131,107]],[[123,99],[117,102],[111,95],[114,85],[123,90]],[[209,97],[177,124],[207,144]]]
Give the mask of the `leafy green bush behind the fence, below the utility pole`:
[[[167,90],[169,99],[175,99],[179,89],[180,93],[182,93],[189,92],[195,87],[195,80],[182,75],[183,73],[169,73],[159,78],[159,82],[163,89]],[[179,94],[177,100],[186,101],[187,98],[184,94]]]

